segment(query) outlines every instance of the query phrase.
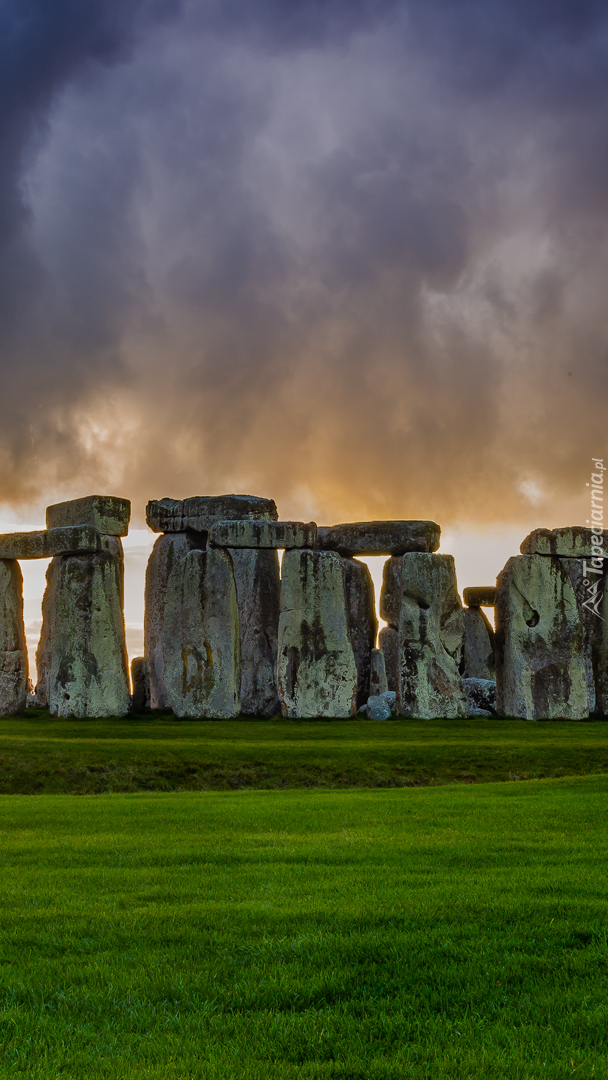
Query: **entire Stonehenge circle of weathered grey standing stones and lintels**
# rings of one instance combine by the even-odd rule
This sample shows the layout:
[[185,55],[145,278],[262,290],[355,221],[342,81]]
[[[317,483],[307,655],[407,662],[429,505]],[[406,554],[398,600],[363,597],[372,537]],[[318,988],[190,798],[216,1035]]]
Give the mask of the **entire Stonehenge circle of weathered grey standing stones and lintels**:
[[[0,536],[0,714],[27,703],[18,561],[50,558],[36,700],[55,716],[608,715],[608,531],[595,526],[535,529],[497,588],[463,591],[463,608],[434,522],[317,528],[279,521],[257,496],[153,500],[147,522],[161,536],[131,696],[130,516],[127,500],[90,496],[49,507],[46,529]],[[374,585],[356,556],[380,554],[376,647]]]

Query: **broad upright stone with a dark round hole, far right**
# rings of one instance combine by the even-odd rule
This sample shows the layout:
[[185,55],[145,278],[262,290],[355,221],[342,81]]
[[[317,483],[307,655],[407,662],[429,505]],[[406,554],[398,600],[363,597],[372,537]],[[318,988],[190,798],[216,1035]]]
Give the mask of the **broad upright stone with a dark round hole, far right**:
[[497,581],[497,711],[529,720],[589,716],[583,625],[555,556],[510,558]]

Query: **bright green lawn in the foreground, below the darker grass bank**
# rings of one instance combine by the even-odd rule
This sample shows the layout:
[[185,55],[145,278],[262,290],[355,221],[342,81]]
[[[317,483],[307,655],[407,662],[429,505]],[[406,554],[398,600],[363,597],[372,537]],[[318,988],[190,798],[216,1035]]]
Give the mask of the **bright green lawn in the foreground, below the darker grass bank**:
[[607,795],[2,797],[0,1077],[606,1077]]

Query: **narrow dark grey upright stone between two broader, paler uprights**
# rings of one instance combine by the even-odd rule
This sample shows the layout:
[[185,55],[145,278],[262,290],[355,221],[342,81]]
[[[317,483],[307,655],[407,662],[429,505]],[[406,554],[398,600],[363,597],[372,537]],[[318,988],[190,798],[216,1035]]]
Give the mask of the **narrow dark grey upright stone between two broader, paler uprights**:
[[276,652],[281,572],[276,551],[230,549],[237,583],[241,632],[241,712],[275,716],[280,712]]

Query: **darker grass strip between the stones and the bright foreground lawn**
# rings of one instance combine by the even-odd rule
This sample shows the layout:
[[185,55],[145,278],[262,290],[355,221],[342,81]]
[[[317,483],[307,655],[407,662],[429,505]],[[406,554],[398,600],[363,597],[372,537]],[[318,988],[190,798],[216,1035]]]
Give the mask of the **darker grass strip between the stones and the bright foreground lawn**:
[[608,772],[608,723],[0,718],[0,793],[404,787]]

